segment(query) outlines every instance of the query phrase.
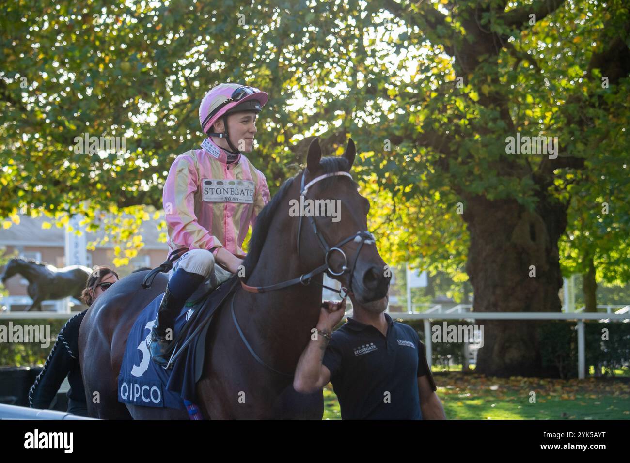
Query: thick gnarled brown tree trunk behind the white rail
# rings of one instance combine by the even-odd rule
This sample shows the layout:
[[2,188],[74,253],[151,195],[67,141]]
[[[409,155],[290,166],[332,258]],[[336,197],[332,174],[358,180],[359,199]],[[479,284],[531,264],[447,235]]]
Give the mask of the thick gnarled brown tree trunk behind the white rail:
[[[542,197],[528,212],[515,200],[477,196],[467,199],[464,220],[471,236],[466,272],[475,312],[561,311],[558,238],[566,227],[566,207]],[[557,369],[542,368],[537,326],[544,322],[481,323],[484,346],[476,371],[500,377],[558,375]]]

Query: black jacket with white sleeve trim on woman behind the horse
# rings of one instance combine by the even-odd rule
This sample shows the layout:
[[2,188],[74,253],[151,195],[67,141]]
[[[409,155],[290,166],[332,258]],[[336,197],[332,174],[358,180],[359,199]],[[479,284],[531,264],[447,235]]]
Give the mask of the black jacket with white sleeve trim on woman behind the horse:
[[49,408],[66,376],[70,383],[67,396],[74,401],[86,401],[79,367],[79,328],[86,312],[87,310],[76,314],[59,331],[57,341],[52,346],[42,371],[28,391],[28,403],[31,408]]

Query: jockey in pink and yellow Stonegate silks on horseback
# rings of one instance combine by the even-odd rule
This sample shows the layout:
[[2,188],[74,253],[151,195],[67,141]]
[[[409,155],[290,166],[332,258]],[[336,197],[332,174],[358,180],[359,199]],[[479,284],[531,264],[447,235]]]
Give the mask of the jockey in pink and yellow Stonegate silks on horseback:
[[175,318],[186,300],[201,283],[215,288],[238,272],[249,226],[269,202],[265,176],[241,154],[253,149],[256,117],[267,99],[265,92],[240,84],[210,89],[199,108],[202,131],[209,137],[201,149],[180,154],[171,165],[163,190],[168,245],[171,252],[188,251],[169,272],[147,336],[158,365],[168,363]]

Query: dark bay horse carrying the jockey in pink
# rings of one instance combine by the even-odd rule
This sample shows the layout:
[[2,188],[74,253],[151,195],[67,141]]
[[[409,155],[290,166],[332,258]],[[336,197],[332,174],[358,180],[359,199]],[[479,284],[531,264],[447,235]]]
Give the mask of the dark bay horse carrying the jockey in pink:
[[[385,263],[374,241],[361,242],[361,237],[369,235],[369,201],[358,193],[352,178],[347,178],[354,158],[352,140],[343,156],[326,158],[321,157],[321,148],[314,140],[307,169],[287,180],[258,215],[243,262],[242,282],[246,284],[238,285],[227,297],[208,330],[207,355],[197,383],[197,405],[205,418],[321,419],[322,392],[298,394],[292,386],[292,374],[318,321],[323,270],[303,283],[297,280],[297,284],[281,289],[266,287],[306,275],[325,262],[360,302],[387,294],[389,277],[384,276]],[[305,185],[307,198],[338,200],[338,220],[295,216],[290,203],[299,202]],[[322,240],[338,248],[326,253]],[[117,400],[117,377],[127,335],[139,312],[164,291],[167,283],[166,276],[159,274],[151,288],[142,289],[145,275],[132,274],[113,285],[90,307],[81,325],[79,357],[90,416],[187,418],[185,411],[138,407]],[[256,287],[266,289],[253,292]],[[95,392],[99,403],[93,401]]]

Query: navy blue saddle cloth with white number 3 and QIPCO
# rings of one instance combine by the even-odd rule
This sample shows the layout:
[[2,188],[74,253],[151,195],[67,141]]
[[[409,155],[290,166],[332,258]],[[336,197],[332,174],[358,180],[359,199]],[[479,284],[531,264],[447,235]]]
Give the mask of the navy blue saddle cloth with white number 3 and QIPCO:
[[[173,339],[178,338],[178,333],[186,322],[199,311],[190,324],[190,329],[187,329],[186,339],[180,340],[179,345],[182,345],[203,321],[214,315],[215,309],[236,287],[236,283],[238,283],[238,278],[231,278],[209,296],[197,301],[194,306],[185,307],[175,319]],[[185,351],[180,353],[173,367],[165,370],[151,360],[145,342],[156,319],[162,295],[157,296],[142,309],[129,333],[118,375],[118,402],[185,410],[185,401],[195,403],[197,399],[195,384],[203,370],[205,336],[210,323],[206,323],[203,329],[197,330],[197,334],[190,340]]]

